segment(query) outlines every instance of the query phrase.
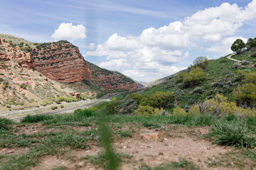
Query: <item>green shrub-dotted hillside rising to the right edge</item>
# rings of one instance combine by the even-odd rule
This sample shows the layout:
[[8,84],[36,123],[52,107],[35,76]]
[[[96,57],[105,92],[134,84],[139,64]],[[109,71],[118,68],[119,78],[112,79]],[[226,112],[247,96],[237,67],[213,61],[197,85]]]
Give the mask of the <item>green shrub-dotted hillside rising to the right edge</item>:
[[[121,100],[120,103],[122,104],[119,105],[119,108],[122,109],[120,113],[134,113],[139,105],[161,108],[156,103],[163,103],[164,100],[169,101],[169,104],[166,102],[168,106],[163,105],[162,108],[169,113],[172,113],[173,108],[177,106],[188,111],[191,106],[197,105],[198,102],[203,103],[206,100],[210,101],[211,98],[215,98],[216,94],[227,97],[227,103],[236,102],[238,106],[248,108],[250,99],[241,99],[244,102],[240,103],[238,99],[235,100],[233,91],[241,89],[243,84],[252,84],[250,85],[251,89],[255,87],[256,67],[254,62],[256,57],[253,57],[255,54],[256,48],[253,47],[232,57],[237,60],[243,60],[242,62],[230,60],[227,58],[228,56],[220,57],[217,60],[208,60],[208,66],[205,69],[201,69],[203,79],[198,82],[191,81],[191,84],[189,84],[190,81],[188,83],[185,81],[185,77],[186,75],[187,78],[191,77],[191,73],[195,72],[196,68],[198,68],[195,65],[177,74],[153,81],[147,84],[146,88],[137,90],[136,93],[129,94]],[[199,76],[198,74],[195,77]],[[159,91],[164,93],[161,94]],[[166,94],[170,95],[166,96]],[[242,95],[240,94],[240,96]],[[253,96],[252,94],[251,97],[253,98]],[[245,100],[249,101],[246,102]]]

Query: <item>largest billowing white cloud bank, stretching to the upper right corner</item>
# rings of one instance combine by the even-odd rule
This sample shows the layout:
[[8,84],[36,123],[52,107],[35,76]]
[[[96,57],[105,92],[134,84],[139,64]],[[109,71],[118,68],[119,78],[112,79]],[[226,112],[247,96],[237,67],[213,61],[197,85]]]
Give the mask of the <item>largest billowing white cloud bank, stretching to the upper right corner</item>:
[[125,61],[134,67],[133,70],[123,69],[123,72],[134,79],[142,75],[160,78],[178,72],[174,64],[189,57],[189,51],[198,47],[197,44],[215,43],[207,50],[230,53],[230,45],[238,28],[244,22],[256,18],[255,8],[256,0],[252,0],[245,8],[223,3],[200,10],[183,21],[175,21],[160,28],[146,28],[136,37],[114,33],[106,42],[97,45],[95,50],[87,51],[86,55],[107,57],[108,61],[102,62],[100,66],[112,69],[120,67]]

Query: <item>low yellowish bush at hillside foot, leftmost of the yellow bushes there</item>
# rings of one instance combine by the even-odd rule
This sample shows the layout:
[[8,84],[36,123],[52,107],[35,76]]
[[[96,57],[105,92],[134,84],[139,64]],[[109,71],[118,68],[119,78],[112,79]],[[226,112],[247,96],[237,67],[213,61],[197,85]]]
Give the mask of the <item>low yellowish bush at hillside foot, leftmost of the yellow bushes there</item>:
[[137,108],[137,110],[135,110],[132,115],[159,115],[160,112],[162,112],[163,109],[159,109],[159,108],[153,108],[151,106],[142,106],[139,105],[139,108]]

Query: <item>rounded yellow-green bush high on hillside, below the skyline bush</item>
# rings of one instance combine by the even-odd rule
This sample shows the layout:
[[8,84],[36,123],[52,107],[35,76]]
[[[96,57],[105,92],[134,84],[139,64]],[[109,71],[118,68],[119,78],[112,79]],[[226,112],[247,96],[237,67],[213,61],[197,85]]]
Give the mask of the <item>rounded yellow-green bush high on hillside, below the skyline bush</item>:
[[196,67],[196,69],[193,69],[184,75],[183,82],[186,86],[196,86],[205,79],[206,76],[203,73],[203,69]]

